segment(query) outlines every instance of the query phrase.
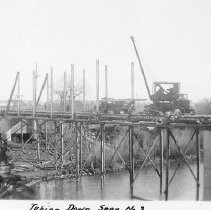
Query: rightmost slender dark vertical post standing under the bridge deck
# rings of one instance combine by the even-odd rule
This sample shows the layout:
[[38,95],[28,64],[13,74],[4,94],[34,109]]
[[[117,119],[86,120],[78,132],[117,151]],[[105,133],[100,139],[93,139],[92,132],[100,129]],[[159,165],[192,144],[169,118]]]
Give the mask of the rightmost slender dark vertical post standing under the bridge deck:
[[197,164],[197,174],[196,174],[196,200],[199,200],[199,175],[200,175],[200,139],[199,139],[199,128],[196,128],[196,164]]

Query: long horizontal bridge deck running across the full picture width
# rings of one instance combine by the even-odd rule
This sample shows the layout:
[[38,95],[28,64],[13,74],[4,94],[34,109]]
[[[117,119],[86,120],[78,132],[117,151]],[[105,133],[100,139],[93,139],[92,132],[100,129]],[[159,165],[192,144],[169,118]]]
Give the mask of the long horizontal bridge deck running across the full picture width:
[[150,116],[147,114],[101,114],[101,113],[75,113],[54,111],[37,111],[33,115],[32,110],[5,110],[0,112],[0,119],[28,119],[45,121],[87,122],[90,124],[119,124],[119,125],[146,125],[166,127],[210,127],[211,115],[188,115],[180,118],[166,116]]

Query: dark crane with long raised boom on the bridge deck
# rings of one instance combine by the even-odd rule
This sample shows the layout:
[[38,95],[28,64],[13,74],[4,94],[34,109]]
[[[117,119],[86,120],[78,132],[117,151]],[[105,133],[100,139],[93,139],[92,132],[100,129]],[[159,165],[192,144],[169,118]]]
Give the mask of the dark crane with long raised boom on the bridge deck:
[[139,53],[135,45],[135,40],[132,36],[131,40],[138,58],[149,99],[152,101],[152,104],[146,106],[146,112],[149,114],[162,114],[179,110],[182,114],[195,114],[195,109],[191,101],[188,99],[187,94],[180,93],[179,82],[154,82],[153,94],[151,94]]

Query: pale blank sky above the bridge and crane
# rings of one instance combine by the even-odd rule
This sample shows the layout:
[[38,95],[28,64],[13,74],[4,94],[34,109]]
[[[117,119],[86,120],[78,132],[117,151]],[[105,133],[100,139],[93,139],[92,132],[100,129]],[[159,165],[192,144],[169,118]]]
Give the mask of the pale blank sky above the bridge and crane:
[[[100,62],[100,98],[130,97],[130,66],[135,64],[135,97],[148,98],[130,36],[136,41],[149,86],[153,81],[181,83],[193,101],[211,98],[210,0],[1,0],[0,99],[9,98],[20,72],[23,99],[32,99],[32,71],[38,66],[38,92],[54,71],[54,89],[63,72],[96,98],[96,59]],[[17,91],[15,92],[17,94]],[[45,94],[42,100],[46,100]]]

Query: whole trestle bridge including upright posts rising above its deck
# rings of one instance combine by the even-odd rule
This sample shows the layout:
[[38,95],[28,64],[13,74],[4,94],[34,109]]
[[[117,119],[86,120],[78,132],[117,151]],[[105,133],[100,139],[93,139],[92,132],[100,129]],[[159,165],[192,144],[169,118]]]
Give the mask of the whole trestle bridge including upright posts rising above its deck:
[[[73,65],[71,66],[71,84],[74,87],[74,73],[73,73]],[[96,104],[99,105],[99,61],[97,61],[97,83],[96,83]],[[107,72],[107,71],[106,71]],[[126,139],[129,141],[129,174],[130,174],[130,193],[131,198],[135,199],[144,199],[144,195],[138,196],[134,195],[134,186],[137,180],[138,175],[141,174],[143,167],[145,166],[146,162],[149,161],[153,166],[156,174],[159,176],[160,179],[160,194],[163,195],[165,200],[168,200],[169,197],[169,186],[172,180],[175,177],[175,174],[180,167],[181,161],[184,161],[187,168],[189,169],[190,173],[193,176],[193,180],[196,182],[196,200],[199,200],[199,177],[200,177],[200,138],[199,133],[204,131],[211,130],[211,116],[184,116],[179,118],[169,118],[164,116],[149,116],[146,114],[100,114],[98,112],[83,112],[83,113],[76,113],[74,111],[74,101],[72,97],[71,101],[71,110],[65,110],[65,100],[64,100],[64,111],[56,112],[53,110],[53,71],[51,69],[51,97],[49,100],[48,94],[48,74],[43,82],[41,87],[41,91],[39,97],[36,98],[36,72],[33,74],[33,109],[32,110],[23,110],[20,108],[20,91],[19,91],[19,73],[16,76],[16,80],[14,86],[12,88],[10,98],[8,100],[8,104],[5,110],[0,112],[1,119],[16,119],[21,122],[21,127],[19,130],[21,131],[21,138],[23,143],[23,126],[28,126],[32,130],[31,137],[36,140],[36,152],[37,152],[37,161],[40,161],[41,155],[43,150],[41,149],[41,143],[45,143],[47,146],[49,138],[52,137],[52,133],[48,130],[48,125],[53,124],[55,132],[54,134],[60,135],[59,146],[60,148],[60,162],[56,162],[61,167],[64,161],[64,132],[66,125],[73,128],[74,135],[71,137],[75,142],[75,167],[76,167],[76,179],[78,180],[83,172],[84,165],[86,161],[83,161],[83,136],[84,136],[84,129],[85,125],[97,125],[100,134],[98,135],[98,142],[100,143],[100,155],[101,155],[101,183],[103,184],[104,176],[106,173],[106,164],[105,164],[105,138],[106,138],[106,126],[108,125],[118,125],[121,127],[126,128],[125,136],[128,138],[122,138],[119,145],[116,146],[114,152],[112,154],[111,160],[114,158],[116,154],[118,154],[118,149],[123,141]],[[85,74],[84,74],[85,75]],[[83,77],[85,80],[85,76]],[[132,80],[131,80],[132,81]],[[106,82],[107,82],[107,75],[106,75]],[[83,102],[85,100],[85,82],[83,81]],[[11,110],[10,102],[14,94],[15,88],[18,88],[18,108],[16,110]],[[47,102],[50,101],[50,111],[39,111],[37,110],[37,104],[39,103],[42,91],[44,87],[47,86]],[[131,95],[133,95],[133,84],[131,86]],[[64,74],[64,95],[66,91],[66,76]],[[74,93],[74,88],[72,88],[72,96]],[[106,97],[107,97],[107,83],[106,83]],[[131,96],[132,97],[132,96]],[[33,123],[29,123],[33,122]],[[148,151],[143,151],[145,158],[138,168],[137,171],[134,170],[134,129],[135,128],[149,128],[153,127],[159,131],[159,138],[155,138],[152,141],[151,146],[148,148]],[[178,139],[176,139],[175,135],[173,134],[172,130],[175,128],[190,128],[193,130],[193,133],[189,137],[189,139],[184,140],[187,142],[185,148],[181,148],[178,144]],[[51,135],[51,136],[50,136]],[[196,139],[196,140],[193,140]],[[158,141],[158,142],[156,142]],[[177,166],[174,169],[173,174],[170,176],[169,168],[170,168],[170,141],[171,144],[174,144],[178,150],[180,158],[178,159]],[[58,142],[55,142],[55,147],[57,146]],[[153,162],[153,159],[150,157],[155,144],[159,145],[159,166]],[[165,150],[164,150],[164,143],[165,143]],[[188,163],[186,152],[189,149],[190,145],[194,143],[196,148],[196,163],[197,163],[197,170],[194,172],[191,166]],[[210,147],[211,150],[211,147]],[[165,154],[164,154],[165,153]],[[58,155],[58,154],[57,154]],[[164,158],[165,156],[165,158]],[[164,164],[165,163],[165,164]],[[164,167],[165,166],[165,167]],[[164,170],[165,169],[165,170]],[[136,173],[135,173],[136,172]],[[185,183],[184,183],[185,184]],[[141,187],[141,186],[139,186]]]

